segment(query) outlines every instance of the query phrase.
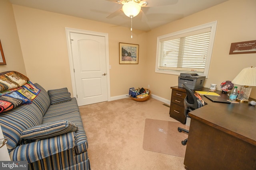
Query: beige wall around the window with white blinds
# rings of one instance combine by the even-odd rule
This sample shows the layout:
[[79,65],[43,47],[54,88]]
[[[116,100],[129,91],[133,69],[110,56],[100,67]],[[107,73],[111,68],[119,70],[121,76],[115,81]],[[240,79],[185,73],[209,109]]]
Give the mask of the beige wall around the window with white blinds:
[[[204,86],[232,81],[245,67],[256,67],[256,53],[229,55],[230,44],[256,40],[256,0],[229,0],[181,20],[148,32],[147,76],[152,93],[170,100],[171,86],[178,85],[178,76],[155,73],[156,39],[160,35],[180,31],[212,21],[218,21],[208,79]],[[256,98],[256,87],[250,95]]]

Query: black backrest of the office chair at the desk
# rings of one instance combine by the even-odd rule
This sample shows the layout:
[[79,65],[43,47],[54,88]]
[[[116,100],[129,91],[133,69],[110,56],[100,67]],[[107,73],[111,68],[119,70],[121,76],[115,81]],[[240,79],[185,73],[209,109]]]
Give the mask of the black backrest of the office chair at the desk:
[[185,84],[182,84],[183,88],[186,90],[186,98],[184,99],[184,106],[185,106],[185,115],[187,116],[188,110],[192,111],[194,109],[198,109],[202,107],[202,102],[199,98],[194,95],[194,92],[190,90]]

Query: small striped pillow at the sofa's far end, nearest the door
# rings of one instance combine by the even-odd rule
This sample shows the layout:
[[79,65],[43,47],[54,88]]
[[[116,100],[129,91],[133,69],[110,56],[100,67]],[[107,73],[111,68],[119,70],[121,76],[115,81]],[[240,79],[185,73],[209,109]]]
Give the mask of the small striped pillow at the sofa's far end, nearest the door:
[[51,104],[58,104],[62,102],[67,102],[71,100],[68,88],[60,88],[54,90],[48,90],[48,94],[51,100]]

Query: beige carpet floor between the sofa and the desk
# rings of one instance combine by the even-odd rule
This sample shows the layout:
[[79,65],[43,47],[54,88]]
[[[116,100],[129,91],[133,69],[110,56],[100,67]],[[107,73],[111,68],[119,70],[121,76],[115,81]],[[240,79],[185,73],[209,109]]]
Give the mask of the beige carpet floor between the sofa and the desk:
[[81,106],[92,170],[185,170],[184,158],[143,149],[145,119],[176,121],[169,107],[150,98]]

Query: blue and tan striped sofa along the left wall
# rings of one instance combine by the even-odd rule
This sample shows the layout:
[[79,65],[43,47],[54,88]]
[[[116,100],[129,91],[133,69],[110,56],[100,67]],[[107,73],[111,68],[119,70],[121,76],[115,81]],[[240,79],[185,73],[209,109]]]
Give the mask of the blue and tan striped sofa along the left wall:
[[32,104],[0,113],[11,160],[28,161],[30,170],[90,170],[88,141],[76,98],[65,100],[62,90],[67,88],[60,93],[57,89],[46,92],[35,85],[41,91]]

